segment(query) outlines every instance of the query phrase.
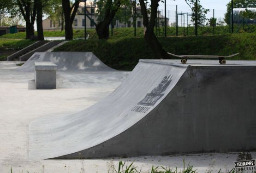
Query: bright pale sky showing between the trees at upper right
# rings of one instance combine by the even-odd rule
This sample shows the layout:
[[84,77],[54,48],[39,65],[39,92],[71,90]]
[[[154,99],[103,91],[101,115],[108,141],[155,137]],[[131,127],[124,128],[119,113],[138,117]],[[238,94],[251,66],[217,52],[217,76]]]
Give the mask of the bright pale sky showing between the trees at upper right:
[[[215,11],[215,17],[217,19],[224,18],[224,14],[226,13],[226,4],[230,2],[230,0],[200,0],[200,4],[209,9],[210,12],[207,14],[207,18],[213,17],[213,9]],[[178,12],[191,12],[190,7],[187,5],[185,0],[167,0],[167,17],[170,18],[170,23],[175,21],[175,11],[176,5],[178,5]],[[164,13],[164,3],[160,3],[159,11],[163,11]],[[169,12],[168,12],[169,11]],[[186,20],[186,17],[185,17]]]

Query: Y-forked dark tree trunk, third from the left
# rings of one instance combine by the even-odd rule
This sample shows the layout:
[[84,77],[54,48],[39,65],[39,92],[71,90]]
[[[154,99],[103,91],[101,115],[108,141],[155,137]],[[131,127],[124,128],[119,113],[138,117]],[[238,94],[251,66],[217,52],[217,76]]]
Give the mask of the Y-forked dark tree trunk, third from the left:
[[73,3],[70,0],[62,0],[62,8],[65,17],[65,39],[73,40],[73,21],[75,19],[77,9],[81,0],[75,0]]

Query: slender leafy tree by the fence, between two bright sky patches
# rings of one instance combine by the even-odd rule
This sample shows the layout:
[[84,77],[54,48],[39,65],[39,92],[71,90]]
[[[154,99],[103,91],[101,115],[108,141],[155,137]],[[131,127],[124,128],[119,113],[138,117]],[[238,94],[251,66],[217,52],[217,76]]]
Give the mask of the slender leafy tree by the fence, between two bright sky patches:
[[192,10],[192,17],[191,21],[195,24],[196,23],[196,12],[197,12],[197,24],[199,26],[204,25],[205,21],[207,20],[206,14],[210,11],[209,9],[205,9],[200,4],[200,0],[197,0],[197,6],[195,0],[185,0],[186,3],[191,7]]

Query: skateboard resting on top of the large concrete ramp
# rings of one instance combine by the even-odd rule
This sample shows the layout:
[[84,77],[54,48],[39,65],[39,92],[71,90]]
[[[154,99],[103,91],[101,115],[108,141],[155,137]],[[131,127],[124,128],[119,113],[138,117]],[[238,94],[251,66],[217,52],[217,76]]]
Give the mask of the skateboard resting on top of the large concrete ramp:
[[226,64],[225,58],[231,58],[239,54],[239,53],[235,53],[228,56],[218,56],[218,55],[175,55],[173,53],[169,53],[169,52],[167,53],[169,55],[172,55],[173,57],[181,58],[181,63],[187,63],[188,58],[219,58],[220,64]]

